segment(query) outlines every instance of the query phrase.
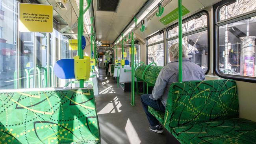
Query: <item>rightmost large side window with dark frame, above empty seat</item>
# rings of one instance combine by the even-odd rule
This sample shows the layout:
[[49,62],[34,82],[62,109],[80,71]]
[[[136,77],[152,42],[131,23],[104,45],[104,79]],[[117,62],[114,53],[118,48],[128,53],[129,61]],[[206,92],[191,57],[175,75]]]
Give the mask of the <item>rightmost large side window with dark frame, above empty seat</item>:
[[215,72],[256,81],[256,1],[225,0],[215,9]]

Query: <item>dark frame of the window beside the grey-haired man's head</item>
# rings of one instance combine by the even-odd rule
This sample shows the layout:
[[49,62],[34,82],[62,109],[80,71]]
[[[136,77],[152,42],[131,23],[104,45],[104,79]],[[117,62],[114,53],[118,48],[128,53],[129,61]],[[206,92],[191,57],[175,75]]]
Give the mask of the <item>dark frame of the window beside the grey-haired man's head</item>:
[[[210,71],[210,54],[211,54],[211,51],[210,51],[210,15],[208,13],[208,11],[206,10],[202,10],[202,11],[199,11],[198,13],[195,13],[194,15],[191,15],[187,18],[184,18],[182,20],[182,24],[185,23],[185,22],[188,22],[190,20],[193,20],[195,17],[198,17],[200,15],[206,15],[207,16],[207,26],[204,26],[202,28],[198,28],[196,30],[192,30],[192,31],[187,31],[187,32],[184,32],[182,33],[182,37],[184,36],[187,36],[187,35],[192,35],[192,34],[195,34],[195,33],[198,33],[198,32],[202,32],[202,31],[206,31],[207,30],[207,44],[208,44],[208,56],[207,56],[207,63],[208,63],[208,68],[207,68],[207,71],[204,73],[204,75],[207,75]],[[166,29],[166,34],[165,34],[165,37],[166,37],[166,40],[165,40],[165,44],[166,44],[166,54],[165,54],[165,57],[166,57],[166,63],[168,63],[168,59],[169,59],[169,54],[168,54],[168,42],[171,41],[171,40],[174,40],[174,39],[177,39],[178,38],[178,35],[174,36],[174,37],[168,37],[168,31],[175,28],[176,26],[178,26],[178,22],[176,22],[175,24],[169,26],[167,29]]]

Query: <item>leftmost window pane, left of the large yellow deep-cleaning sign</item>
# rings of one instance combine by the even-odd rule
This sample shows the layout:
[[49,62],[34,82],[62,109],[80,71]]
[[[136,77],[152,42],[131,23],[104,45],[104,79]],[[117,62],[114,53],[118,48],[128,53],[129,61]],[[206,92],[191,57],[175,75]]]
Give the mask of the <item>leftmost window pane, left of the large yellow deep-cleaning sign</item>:
[[17,2],[0,0],[0,89],[17,88]]

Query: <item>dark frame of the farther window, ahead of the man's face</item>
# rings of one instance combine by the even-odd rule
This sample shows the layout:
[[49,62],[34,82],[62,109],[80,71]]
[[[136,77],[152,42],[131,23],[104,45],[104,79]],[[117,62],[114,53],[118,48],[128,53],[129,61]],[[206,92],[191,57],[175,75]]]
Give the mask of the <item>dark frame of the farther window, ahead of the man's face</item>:
[[[151,44],[148,44],[148,39],[150,39],[150,38],[152,38],[156,35],[159,35],[161,33],[163,33],[163,40],[162,41],[153,42]],[[163,43],[163,59],[165,59],[165,34],[164,34],[164,31],[160,30],[160,31],[154,33],[153,35],[150,35],[149,37],[147,37],[147,39],[146,39],[146,56],[147,56],[146,57],[146,64],[147,65],[148,65],[148,46],[154,46],[156,44],[161,44],[161,43]],[[165,66],[165,60],[163,60],[163,66]]]

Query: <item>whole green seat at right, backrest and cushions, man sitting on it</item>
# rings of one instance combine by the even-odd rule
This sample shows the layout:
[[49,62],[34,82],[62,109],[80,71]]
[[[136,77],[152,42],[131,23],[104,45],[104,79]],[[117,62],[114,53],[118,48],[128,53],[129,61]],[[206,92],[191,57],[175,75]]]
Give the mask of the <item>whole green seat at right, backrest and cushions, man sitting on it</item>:
[[165,114],[148,111],[182,144],[256,143],[256,122],[239,118],[232,79],[175,82]]

